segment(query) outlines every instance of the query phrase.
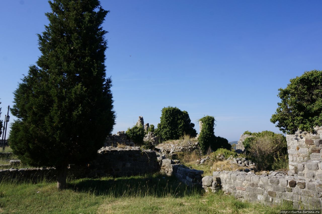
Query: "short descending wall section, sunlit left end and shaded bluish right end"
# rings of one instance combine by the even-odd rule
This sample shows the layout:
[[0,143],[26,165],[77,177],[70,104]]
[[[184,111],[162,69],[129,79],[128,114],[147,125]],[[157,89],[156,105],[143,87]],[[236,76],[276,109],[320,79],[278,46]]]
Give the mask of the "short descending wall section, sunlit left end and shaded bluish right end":
[[179,160],[163,159],[160,173],[167,176],[175,176],[178,180],[189,186],[202,186],[202,170],[190,169],[182,164]]

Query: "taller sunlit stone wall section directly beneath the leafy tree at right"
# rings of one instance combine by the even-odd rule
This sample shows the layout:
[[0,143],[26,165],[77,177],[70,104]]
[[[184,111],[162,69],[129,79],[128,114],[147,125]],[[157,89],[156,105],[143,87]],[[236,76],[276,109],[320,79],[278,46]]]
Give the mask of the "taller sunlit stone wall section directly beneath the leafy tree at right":
[[297,131],[295,134],[287,134],[286,140],[290,173],[298,173],[298,164],[302,162],[321,159],[322,126],[315,127],[313,133]]

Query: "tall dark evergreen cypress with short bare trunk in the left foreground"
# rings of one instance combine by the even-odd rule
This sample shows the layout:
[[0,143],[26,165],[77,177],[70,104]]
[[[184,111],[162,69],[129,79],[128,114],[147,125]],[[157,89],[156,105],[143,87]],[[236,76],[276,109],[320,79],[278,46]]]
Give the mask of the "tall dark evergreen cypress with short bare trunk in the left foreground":
[[105,74],[109,11],[98,0],[49,1],[38,34],[41,56],[14,92],[10,145],[34,166],[54,166],[66,187],[68,164],[92,160],[115,124],[111,79]]

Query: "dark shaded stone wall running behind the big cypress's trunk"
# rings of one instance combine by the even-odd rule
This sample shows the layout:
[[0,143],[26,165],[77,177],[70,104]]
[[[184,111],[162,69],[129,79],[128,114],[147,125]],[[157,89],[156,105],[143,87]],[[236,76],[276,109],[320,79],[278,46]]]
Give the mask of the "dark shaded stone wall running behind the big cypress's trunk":
[[[103,176],[131,176],[154,173],[160,170],[156,152],[140,150],[140,147],[105,147],[98,157],[86,166],[70,165],[68,172],[73,178],[95,178]],[[55,168],[0,170],[0,181],[4,179],[56,179]]]

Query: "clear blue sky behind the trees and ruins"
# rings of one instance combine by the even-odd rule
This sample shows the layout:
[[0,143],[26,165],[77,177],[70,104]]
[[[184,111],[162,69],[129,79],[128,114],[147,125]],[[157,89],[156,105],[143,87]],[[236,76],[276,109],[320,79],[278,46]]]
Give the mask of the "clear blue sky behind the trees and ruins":
[[[278,89],[322,70],[322,1],[101,1],[112,76],[113,133],[138,116],[157,125],[161,109],[186,110],[195,128],[216,119],[215,135],[279,132],[270,122]],[[40,56],[45,0],[0,0],[1,119],[17,83]],[[11,122],[13,117],[11,117]],[[280,132],[279,132],[280,133]]]

